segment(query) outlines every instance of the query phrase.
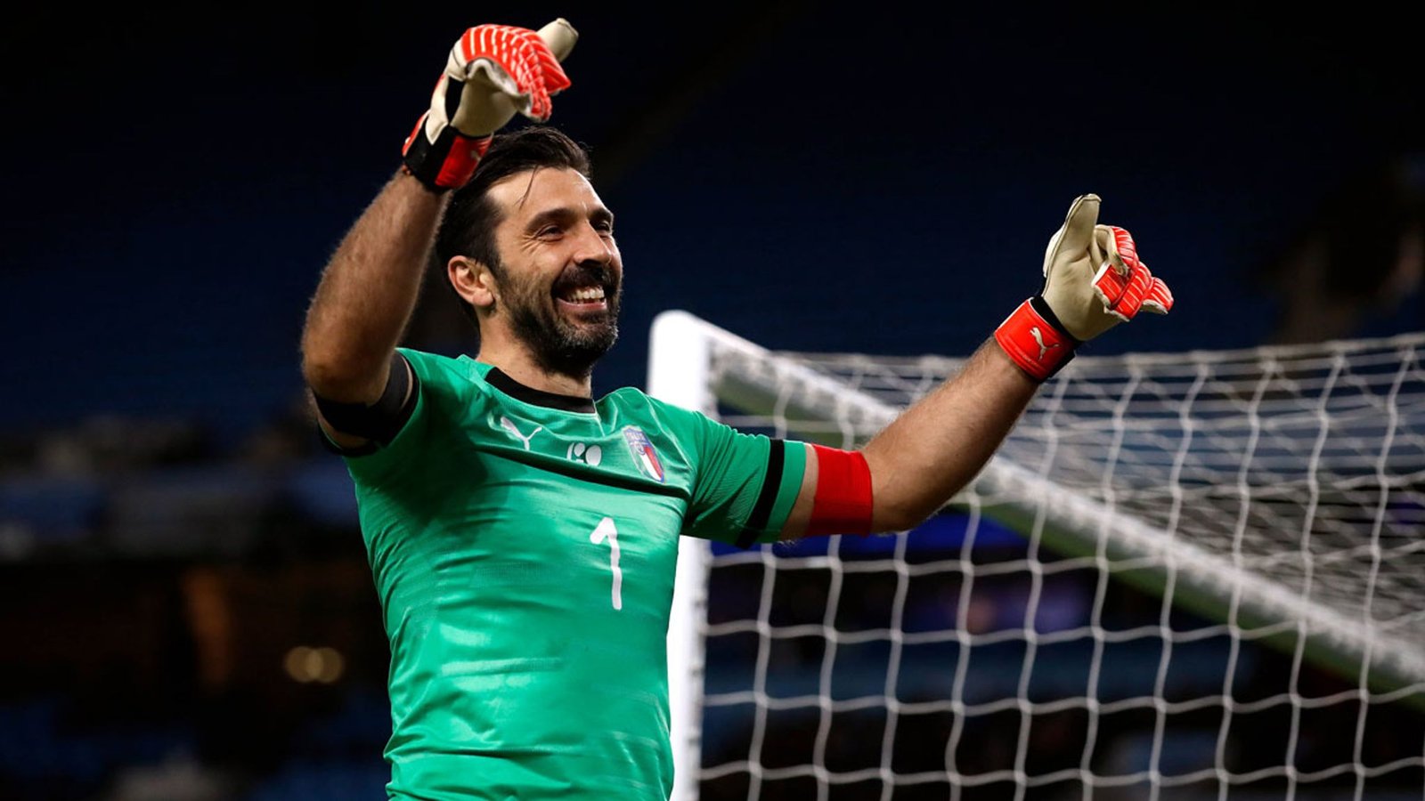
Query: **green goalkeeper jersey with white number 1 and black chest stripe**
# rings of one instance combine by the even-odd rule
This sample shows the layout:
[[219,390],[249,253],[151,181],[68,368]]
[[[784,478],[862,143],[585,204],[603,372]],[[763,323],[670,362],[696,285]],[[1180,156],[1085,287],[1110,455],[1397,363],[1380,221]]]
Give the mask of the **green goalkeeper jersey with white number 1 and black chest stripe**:
[[777,539],[804,448],[400,353],[415,410],[346,455],[390,641],[390,795],[665,800],[678,536]]

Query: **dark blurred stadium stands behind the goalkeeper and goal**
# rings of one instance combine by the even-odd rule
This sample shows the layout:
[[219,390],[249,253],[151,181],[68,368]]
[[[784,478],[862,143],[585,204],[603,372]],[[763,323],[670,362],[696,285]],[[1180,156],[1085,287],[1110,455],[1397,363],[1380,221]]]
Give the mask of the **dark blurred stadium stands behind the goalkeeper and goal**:
[[[644,385],[670,308],[965,355],[1086,191],[1178,304],[1094,353],[1425,329],[1387,6],[30,9],[0,33],[0,798],[383,797],[386,644],[298,331],[455,37],[556,16],[551,123],[627,267],[597,393]],[[469,343],[443,291],[409,343]]]

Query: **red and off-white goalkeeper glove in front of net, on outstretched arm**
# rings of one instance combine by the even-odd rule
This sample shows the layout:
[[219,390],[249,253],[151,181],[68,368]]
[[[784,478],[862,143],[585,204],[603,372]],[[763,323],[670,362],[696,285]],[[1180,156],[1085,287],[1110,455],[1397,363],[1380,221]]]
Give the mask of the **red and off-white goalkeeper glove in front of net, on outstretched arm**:
[[1010,314],[995,339],[1030,378],[1046,381],[1073,351],[1139,311],[1167,314],[1173,292],[1139,259],[1133,237],[1099,225],[1099,195],[1080,195],[1045,249],[1045,286]]

